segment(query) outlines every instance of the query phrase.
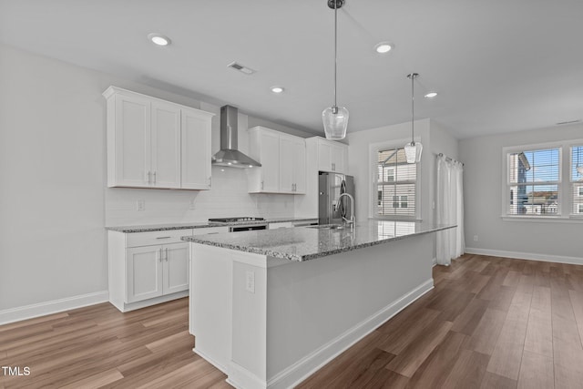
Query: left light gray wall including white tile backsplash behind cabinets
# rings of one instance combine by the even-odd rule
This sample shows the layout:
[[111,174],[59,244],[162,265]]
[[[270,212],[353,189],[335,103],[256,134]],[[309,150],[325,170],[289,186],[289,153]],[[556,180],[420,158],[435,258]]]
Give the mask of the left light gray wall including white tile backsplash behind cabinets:
[[[107,189],[101,94],[110,85],[219,111],[189,97],[0,45],[0,322],[3,314],[31,304],[107,298],[107,224],[204,220],[211,212],[225,216],[236,207],[237,214],[243,207],[260,216],[293,215],[291,195],[248,194],[244,170],[213,168],[217,185],[204,193]],[[248,117],[241,117],[247,125]],[[219,119],[213,119],[213,150],[219,148],[218,128]],[[240,137],[246,148],[246,131]],[[146,212],[136,211],[137,199],[146,200]]]

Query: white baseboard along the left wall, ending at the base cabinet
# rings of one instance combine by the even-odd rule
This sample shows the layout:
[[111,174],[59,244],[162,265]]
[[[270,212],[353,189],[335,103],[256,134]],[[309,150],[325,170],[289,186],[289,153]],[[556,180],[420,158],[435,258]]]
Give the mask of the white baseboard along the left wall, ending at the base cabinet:
[[0,311],[0,325],[9,322],[20,322],[21,320],[87,307],[88,305],[108,301],[109,292],[102,291],[53,300],[51,302],[39,302],[36,304],[25,305],[23,307],[10,308]]

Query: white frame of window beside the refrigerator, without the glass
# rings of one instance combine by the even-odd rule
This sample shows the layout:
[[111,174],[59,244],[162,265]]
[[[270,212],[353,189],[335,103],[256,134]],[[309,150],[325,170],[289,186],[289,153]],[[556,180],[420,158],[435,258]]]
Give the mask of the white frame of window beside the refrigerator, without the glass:
[[[415,141],[421,142],[421,138],[415,137]],[[368,212],[370,219],[378,219],[378,220],[394,220],[394,221],[422,221],[421,219],[421,162],[417,162],[415,164],[415,196],[414,196],[414,204],[415,204],[415,212],[414,216],[407,217],[407,216],[398,216],[398,215],[387,215],[382,216],[378,214],[378,152],[381,150],[386,149],[393,149],[393,148],[404,148],[406,143],[411,142],[411,138],[403,138],[403,139],[394,139],[379,143],[373,143],[369,145],[369,177],[371,178],[371,184],[369,185],[369,196],[368,196]],[[401,204],[403,200],[401,199],[402,196],[399,197],[399,208],[401,208]],[[411,201],[409,199],[406,200],[407,208]]]

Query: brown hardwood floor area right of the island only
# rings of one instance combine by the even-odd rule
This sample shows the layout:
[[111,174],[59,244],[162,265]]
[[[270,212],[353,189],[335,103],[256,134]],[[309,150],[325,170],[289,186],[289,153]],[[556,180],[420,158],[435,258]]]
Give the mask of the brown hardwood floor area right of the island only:
[[465,255],[298,388],[583,388],[583,266]]

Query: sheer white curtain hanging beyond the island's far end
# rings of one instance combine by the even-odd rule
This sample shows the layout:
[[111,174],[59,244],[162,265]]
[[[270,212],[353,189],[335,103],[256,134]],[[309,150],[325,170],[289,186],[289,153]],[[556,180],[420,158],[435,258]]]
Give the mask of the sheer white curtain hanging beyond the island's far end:
[[464,238],[464,165],[437,157],[437,224],[456,224],[457,228],[437,232],[436,260],[449,266],[465,251]]

